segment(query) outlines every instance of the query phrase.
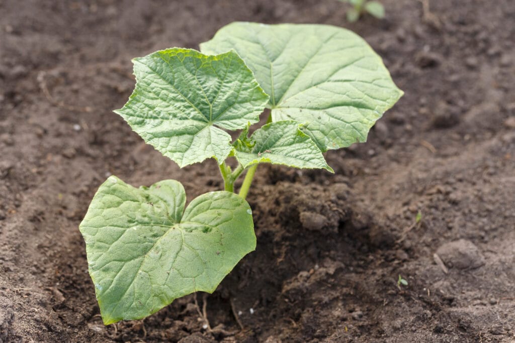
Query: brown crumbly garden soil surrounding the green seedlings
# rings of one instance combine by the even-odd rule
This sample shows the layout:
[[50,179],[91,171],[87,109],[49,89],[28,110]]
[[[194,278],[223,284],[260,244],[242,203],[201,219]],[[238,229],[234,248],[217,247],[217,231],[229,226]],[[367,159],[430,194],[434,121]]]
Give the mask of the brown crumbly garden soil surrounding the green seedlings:
[[[515,2],[384,4],[0,0],[0,342],[515,341]],[[130,59],[236,20],[350,28],[406,94],[336,174],[258,169],[258,248],[216,292],[105,327],[78,230],[100,183],[222,186],[111,112]]]

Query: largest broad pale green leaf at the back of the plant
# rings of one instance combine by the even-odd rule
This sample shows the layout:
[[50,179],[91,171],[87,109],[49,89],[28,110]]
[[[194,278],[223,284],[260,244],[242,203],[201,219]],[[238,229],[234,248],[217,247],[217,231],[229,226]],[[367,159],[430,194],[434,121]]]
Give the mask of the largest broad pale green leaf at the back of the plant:
[[403,94],[372,48],[339,27],[232,23],[200,47],[234,49],[270,95],[273,121],[306,123],[322,151],[365,141]]

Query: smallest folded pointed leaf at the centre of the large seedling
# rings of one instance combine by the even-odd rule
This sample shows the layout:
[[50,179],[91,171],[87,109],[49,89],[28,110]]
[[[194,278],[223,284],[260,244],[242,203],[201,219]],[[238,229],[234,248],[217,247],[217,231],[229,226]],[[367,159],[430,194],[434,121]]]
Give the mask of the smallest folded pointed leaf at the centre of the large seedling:
[[327,165],[322,152],[296,121],[278,121],[256,130],[250,140],[255,142],[250,151],[235,151],[245,168],[256,163],[271,163],[295,168],[322,168],[334,172]]

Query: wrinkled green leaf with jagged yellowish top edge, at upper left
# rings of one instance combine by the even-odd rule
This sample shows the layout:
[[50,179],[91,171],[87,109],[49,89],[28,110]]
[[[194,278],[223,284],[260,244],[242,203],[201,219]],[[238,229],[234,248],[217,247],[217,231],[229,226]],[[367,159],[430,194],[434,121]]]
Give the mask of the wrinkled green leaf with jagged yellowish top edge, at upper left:
[[[136,87],[121,115],[180,167],[231,152],[231,136],[259,121],[268,95],[234,51],[205,56],[172,48],[136,58]],[[220,129],[221,128],[221,129]]]

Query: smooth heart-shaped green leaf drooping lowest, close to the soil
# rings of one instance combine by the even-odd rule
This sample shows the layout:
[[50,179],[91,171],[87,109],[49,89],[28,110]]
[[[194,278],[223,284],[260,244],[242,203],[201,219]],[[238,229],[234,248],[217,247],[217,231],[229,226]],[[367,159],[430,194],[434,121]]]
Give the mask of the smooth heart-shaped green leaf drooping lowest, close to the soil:
[[174,299],[212,293],[255,249],[252,212],[234,193],[195,198],[175,180],[134,188],[110,176],[80,224],[104,323],[140,319]]

